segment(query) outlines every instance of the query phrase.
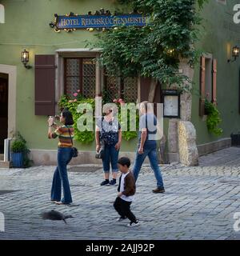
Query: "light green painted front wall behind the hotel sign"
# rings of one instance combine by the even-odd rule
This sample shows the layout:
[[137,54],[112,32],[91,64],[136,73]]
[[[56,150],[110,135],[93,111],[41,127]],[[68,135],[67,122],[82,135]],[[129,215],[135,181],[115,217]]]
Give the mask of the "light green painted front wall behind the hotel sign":
[[[5,0],[6,23],[0,24],[0,63],[17,66],[17,130],[30,149],[56,149],[57,140],[47,138],[47,117],[34,115],[34,69],[26,70],[20,61],[23,49],[30,51],[30,65],[35,54],[54,54],[62,48],[84,48],[86,40],[95,40],[94,33],[77,30],[55,33],[49,23],[54,14],[94,13],[95,10],[116,10],[110,0]],[[122,140],[122,151],[134,151],[137,139]],[[94,150],[95,143],[76,143],[79,150]]]

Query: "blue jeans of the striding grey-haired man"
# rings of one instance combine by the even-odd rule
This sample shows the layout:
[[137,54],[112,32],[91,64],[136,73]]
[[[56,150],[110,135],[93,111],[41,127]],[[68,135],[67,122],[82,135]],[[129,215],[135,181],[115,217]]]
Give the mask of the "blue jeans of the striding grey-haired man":
[[150,161],[150,166],[154,170],[154,175],[157,180],[157,186],[159,188],[163,188],[164,186],[163,186],[163,181],[162,181],[162,174],[161,174],[161,170],[158,166],[157,149],[156,149],[155,145],[144,146],[143,154],[138,154],[138,150],[137,150],[136,158],[135,158],[135,162],[134,162],[134,168],[133,168],[135,181],[137,182],[138,174],[141,170],[142,163],[144,162],[144,160],[147,156]]

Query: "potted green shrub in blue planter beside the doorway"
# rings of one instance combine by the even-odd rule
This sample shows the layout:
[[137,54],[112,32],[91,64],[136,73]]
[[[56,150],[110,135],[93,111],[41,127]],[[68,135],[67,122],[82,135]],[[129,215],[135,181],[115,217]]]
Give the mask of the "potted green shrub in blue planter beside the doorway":
[[11,143],[11,162],[14,168],[25,168],[30,166],[27,154],[26,140],[18,133],[17,138]]

